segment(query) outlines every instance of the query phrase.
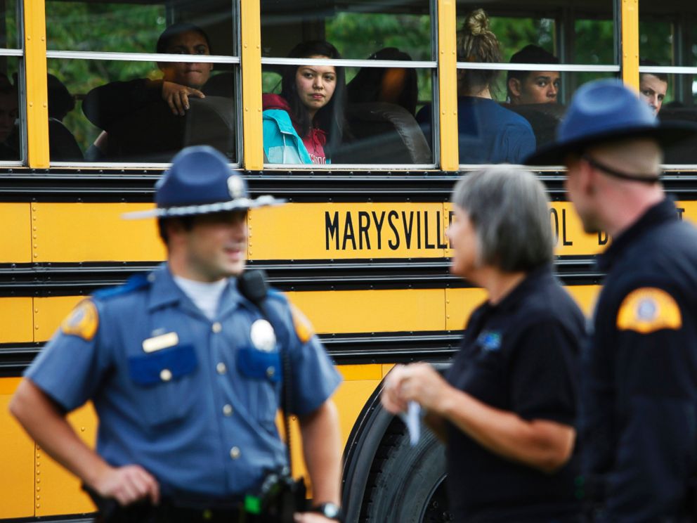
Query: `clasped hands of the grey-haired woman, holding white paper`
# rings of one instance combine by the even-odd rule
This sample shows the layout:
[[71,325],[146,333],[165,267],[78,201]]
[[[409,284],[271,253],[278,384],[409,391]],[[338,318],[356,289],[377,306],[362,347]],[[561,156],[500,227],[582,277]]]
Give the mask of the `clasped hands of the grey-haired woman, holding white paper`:
[[428,363],[397,365],[385,379],[380,400],[386,411],[393,414],[406,411],[409,401],[416,401],[428,411],[439,413],[451,388]]

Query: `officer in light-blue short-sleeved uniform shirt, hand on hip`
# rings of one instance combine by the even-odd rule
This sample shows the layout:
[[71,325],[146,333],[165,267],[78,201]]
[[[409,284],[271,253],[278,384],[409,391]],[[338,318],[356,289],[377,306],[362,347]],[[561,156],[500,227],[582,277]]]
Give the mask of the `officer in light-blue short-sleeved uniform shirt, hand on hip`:
[[[339,375],[285,297],[264,300],[270,322],[235,285],[247,209],[278,200],[251,200],[209,147],[176,155],[156,187],[157,208],[140,217],[159,218],[167,263],[79,304],[27,370],[12,413],[88,489],[117,501],[119,521],[234,522],[243,497],[286,465],[275,416],[287,351],[315,503],[295,520],[339,519],[330,399]],[[88,400],[99,417],[96,451],[65,420]]]

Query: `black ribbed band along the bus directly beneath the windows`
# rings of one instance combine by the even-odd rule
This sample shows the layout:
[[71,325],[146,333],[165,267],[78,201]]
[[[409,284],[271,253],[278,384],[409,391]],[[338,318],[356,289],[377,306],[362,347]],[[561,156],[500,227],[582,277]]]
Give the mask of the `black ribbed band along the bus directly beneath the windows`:
[[[291,202],[444,202],[466,172],[240,171],[252,195],[271,193]],[[0,167],[2,202],[152,202],[162,169],[26,169]],[[566,200],[564,172],[540,179],[552,200]],[[694,199],[695,172],[669,172],[665,190]]]

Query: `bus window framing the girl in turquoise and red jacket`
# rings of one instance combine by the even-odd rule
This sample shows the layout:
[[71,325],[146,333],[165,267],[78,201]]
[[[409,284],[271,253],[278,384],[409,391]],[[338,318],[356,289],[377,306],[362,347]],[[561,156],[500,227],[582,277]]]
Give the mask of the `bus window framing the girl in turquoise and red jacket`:
[[415,120],[433,101],[431,8],[427,0],[301,11],[263,3],[268,164],[433,166],[433,142]]

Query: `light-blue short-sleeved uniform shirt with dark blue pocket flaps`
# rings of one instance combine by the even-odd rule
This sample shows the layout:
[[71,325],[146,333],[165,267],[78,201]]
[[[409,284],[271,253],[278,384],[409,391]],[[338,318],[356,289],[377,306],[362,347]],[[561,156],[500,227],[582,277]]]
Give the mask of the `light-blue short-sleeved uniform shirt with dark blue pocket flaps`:
[[[270,291],[266,306],[282,319],[292,413],[311,413],[341,379],[285,297]],[[165,496],[254,493],[286,463],[275,425],[282,366],[260,320],[231,279],[210,321],[163,266],[82,302],[26,375],[65,411],[92,399],[100,456],[142,465]]]

